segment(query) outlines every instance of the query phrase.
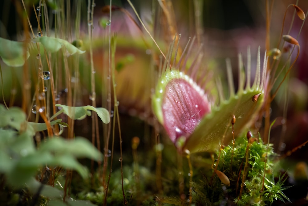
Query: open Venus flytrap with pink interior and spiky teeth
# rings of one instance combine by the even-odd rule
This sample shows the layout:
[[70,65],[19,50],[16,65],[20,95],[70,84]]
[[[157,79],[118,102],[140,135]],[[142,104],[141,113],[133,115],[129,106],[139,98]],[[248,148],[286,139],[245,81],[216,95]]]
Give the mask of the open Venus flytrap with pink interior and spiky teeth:
[[[247,61],[250,62],[249,49],[247,53]],[[239,88],[237,93],[234,93],[233,77],[228,71],[227,99],[224,99],[219,91],[218,95],[209,93],[205,87],[202,88],[196,83],[196,76],[190,76],[196,73],[196,69],[201,68],[191,66],[185,72],[180,68],[181,62],[172,68],[167,63],[157,83],[152,105],[158,121],[164,126],[177,149],[180,152],[187,149],[191,153],[213,150],[219,142],[228,143],[234,135],[232,131],[236,131],[237,136],[243,128],[249,127],[258,116],[263,103],[265,81],[268,78],[265,72],[266,63],[265,54],[261,75],[259,48],[255,79],[250,85],[250,76],[247,76],[245,85],[244,64],[239,55]],[[231,70],[231,67],[228,66],[227,69]],[[251,66],[248,65],[247,75],[251,73],[250,69]],[[236,124],[231,126],[233,116],[236,117]]]

